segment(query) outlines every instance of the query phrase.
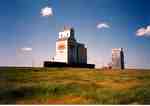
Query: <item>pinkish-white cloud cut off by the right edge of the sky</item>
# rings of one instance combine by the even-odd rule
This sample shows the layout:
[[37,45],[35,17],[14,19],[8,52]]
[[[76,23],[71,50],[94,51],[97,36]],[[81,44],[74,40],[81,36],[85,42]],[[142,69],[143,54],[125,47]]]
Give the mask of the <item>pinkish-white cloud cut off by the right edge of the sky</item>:
[[136,32],[137,36],[150,36],[150,25],[147,26],[146,28],[140,28]]

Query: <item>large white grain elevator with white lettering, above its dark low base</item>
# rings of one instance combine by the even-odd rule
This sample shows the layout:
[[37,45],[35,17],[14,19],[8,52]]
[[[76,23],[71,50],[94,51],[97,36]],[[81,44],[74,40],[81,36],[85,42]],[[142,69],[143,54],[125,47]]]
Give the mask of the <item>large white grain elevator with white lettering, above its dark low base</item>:
[[87,64],[87,48],[76,41],[73,28],[64,28],[62,32],[59,32],[54,61],[66,64]]

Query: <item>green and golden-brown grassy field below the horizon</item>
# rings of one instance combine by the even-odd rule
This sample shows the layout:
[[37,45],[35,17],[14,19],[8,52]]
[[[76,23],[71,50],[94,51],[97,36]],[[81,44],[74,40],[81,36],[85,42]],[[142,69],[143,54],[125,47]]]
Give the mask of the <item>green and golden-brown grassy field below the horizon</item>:
[[0,104],[150,104],[150,70],[0,68]]

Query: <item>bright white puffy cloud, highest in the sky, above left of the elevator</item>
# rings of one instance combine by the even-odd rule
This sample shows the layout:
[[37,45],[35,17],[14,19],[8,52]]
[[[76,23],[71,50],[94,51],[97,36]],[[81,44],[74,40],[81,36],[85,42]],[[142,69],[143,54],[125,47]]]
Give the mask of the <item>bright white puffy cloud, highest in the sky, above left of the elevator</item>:
[[43,17],[48,17],[53,15],[53,9],[51,7],[44,7],[41,9],[41,15]]

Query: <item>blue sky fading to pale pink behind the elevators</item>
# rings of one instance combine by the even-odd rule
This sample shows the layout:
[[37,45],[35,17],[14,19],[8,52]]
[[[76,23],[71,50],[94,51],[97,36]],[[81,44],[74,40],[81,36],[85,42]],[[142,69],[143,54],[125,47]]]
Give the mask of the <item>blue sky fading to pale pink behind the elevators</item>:
[[[88,47],[88,63],[111,61],[112,48],[125,49],[130,68],[150,68],[149,0],[0,0],[0,66],[40,66],[55,56],[64,25]],[[53,15],[43,17],[50,7]],[[97,28],[97,24],[109,27]],[[138,36],[142,29],[144,34]],[[148,34],[145,32],[147,31]],[[23,52],[21,48],[32,48]]]

